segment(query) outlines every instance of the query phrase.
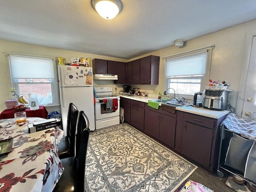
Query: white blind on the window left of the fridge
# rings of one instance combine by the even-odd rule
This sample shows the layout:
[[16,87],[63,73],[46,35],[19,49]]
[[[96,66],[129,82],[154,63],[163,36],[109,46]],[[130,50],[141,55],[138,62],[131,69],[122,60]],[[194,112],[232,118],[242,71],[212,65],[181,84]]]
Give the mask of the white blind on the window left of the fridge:
[[13,78],[49,78],[54,79],[52,59],[32,58],[10,55]]

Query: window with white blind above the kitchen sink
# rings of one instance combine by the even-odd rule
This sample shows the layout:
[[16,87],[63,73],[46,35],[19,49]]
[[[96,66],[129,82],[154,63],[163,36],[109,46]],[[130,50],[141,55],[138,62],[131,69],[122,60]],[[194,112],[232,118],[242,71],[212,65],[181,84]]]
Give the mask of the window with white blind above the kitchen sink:
[[[173,88],[179,96],[191,96],[203,90],[208,51],[166,59],[166,90]],[[173,93],[172,89],[168,93]]]

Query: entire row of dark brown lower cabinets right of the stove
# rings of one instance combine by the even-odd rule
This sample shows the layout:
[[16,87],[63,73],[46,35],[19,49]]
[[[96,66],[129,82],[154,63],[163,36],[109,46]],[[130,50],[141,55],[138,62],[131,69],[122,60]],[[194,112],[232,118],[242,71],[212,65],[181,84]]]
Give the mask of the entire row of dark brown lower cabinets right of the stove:
[[162,110],[161,107],[156,110],[136,100],[121,101],[121,106],[126,108],[126,122],[130,119],[128,123],[132,126],[166,144],[168,148],[172,148],[205,170],[216,173],[220,123],[226,115],[215,119],[179,110],[171,113]]

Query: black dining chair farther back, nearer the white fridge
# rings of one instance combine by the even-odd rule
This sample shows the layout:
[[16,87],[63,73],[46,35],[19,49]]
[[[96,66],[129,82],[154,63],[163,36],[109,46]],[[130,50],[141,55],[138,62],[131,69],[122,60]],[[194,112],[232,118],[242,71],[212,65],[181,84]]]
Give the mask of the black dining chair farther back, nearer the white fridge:
[[59,158],[73,157],[75,154],[76,124],[78,120],[78,108],[70,103],[68,107],[67,136],[63,136],[58,144]]

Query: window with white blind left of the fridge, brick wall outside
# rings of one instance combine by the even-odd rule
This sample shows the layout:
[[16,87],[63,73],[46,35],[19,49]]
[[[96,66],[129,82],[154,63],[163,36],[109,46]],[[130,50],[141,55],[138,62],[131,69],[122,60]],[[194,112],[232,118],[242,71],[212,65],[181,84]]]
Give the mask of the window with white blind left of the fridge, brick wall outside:
[[58,104],[56,64],[52,58],[9,55],[9,62],[16,94],[24,98],[36,94],[46,97],[50,101],[48,105]]

